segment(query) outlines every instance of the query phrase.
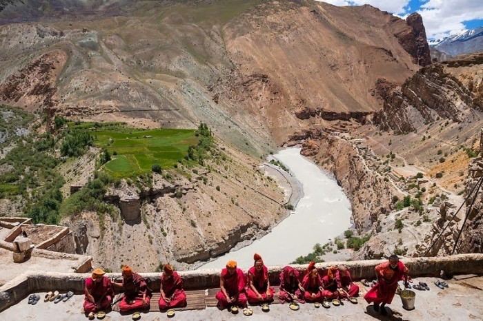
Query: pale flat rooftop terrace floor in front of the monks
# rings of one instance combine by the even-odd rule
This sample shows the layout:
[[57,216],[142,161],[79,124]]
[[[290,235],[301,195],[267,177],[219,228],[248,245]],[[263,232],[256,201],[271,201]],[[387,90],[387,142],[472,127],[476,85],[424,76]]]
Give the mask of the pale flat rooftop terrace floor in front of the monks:
[[[172,320],[482,320],[483,316],[483,277],[458,276],[446,280],[448,289],[439,289],[434,284],[435,278],[416,278],[414,282],[426,282],[430,291],[417,291],[415,309],[402,309],[399,296],[395,296],[393,304],[388,305],[387,316],[375,313],[372,306],[359,297],[357,304],[344,302],[344,306],[315,309],[313,304],[301,304],[299,311],[291,311],[288,304],[272,304],[270,312],[264,313],[260,307],[253,307],[253,315],[246,317],[243,313],[233,315],[215,307],[203,310],[177,311]],[[356,282],[362,292],[368,288]],[[480,288],[480,289],[477,289]],[[88,320],[82,313],[83,295],[76,295],[68,302],[43,302],[46,292],[37,293],[40,302],[32,306],[28,298],[23,298],[14,306],[0,313],[0,320]],[[362,294],[363,295],[363,294]],[[157,303],[157,302],[153,302]],[[95,319],[97,320],[97,319]],[[104,320],[131,320],[131,315],[121,315],[111,311]],[[168,320],[166,313],[141,313],[141,320]]]

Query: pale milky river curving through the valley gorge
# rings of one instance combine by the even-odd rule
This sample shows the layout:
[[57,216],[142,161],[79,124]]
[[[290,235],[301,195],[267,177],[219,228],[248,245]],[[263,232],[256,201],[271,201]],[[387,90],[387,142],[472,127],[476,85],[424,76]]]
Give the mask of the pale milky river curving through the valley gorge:
[[286,265],[298,256],[324,245],[351,227],[351,203],[337,182],[300,154],[299,148],[284,149],[274,155],[299,180],[304,196],[295,212],[273,227],[270,233],[237,251],[230,251],[199,269],[220,269],[228,260],[238,267],[253,265],[253,253],[259,253],[266,265]]

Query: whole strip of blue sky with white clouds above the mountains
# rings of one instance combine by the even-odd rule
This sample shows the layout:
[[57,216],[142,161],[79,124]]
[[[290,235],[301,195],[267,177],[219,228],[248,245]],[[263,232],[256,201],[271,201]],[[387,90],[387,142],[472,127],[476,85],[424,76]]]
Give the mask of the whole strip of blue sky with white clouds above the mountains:
[[405,18],[419,12],[428,39],[440,39],[483,26],[483,0],[317,0],[335,6],[370,4]]

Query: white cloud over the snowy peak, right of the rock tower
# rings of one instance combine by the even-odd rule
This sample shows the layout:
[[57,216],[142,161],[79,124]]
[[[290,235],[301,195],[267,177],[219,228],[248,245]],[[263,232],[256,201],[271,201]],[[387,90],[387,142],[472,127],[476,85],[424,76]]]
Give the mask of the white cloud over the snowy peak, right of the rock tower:
[[418,10],[429,39],[464,30],[463,21],[483,19],[482,0],[429,0]]

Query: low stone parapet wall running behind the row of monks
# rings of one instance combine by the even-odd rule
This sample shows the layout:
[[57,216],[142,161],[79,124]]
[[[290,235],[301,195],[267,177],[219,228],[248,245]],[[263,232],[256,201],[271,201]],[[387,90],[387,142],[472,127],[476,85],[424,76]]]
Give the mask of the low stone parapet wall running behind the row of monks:
[[[41,251],[38,249],[35,251]],[[48,255],[51,255],[50,251]],[[71,256],[69,254],[59,255]],[[324,270],[332,265],[344,264],[351,270],[354,280],[362,278],[374,278],[374,268],[376,265],[385,260],[365,260],[365,261],[349,261],[349,262],[327,262],[319,263],[316,267]],[[460,254],[456,256],[437,257],[437,258],[408,258],[403,262],[410,269],[409,274],[412,277],[435,276],[440,277],[440,272],[444,271],[446,276],[460,274],[483,274],[483,254]],[[299,271],[305,271],[307,265],[292,265]],[[279,273],[283,269],[279,267],[268,267],[270,282],[274,285],[278,284]],[[179,274],[183,278],[184,288],[190,289],[208,289],[219,287],[220,269],[206,269],[199,271],[180,271]],[[159,278],[161,273],[140,273],[148,282],[153,291],[159,291]],[[28,293],[36,291],[47,291],[57,289],[58,291],[75,291],[82,293],[84,282],[90,273],[25,273],[7,284],[0,287],[0,291],[6,291],[10,296],[10,301],[0,300],[0,311],[12,306]],[[121,273],[107,273],[109,278],[121,279]]]

